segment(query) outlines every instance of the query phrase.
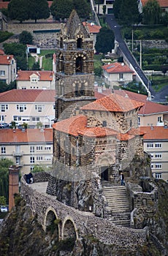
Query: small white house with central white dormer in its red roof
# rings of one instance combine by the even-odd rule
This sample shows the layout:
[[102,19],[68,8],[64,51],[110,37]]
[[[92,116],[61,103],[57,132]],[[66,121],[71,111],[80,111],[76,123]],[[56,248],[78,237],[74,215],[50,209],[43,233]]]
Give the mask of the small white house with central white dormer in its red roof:
[[19,70],[16,78],[17,89],[55,89],[53,71]]

